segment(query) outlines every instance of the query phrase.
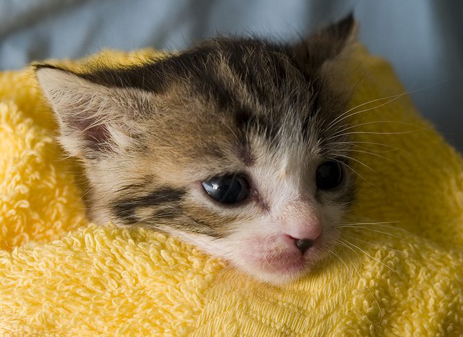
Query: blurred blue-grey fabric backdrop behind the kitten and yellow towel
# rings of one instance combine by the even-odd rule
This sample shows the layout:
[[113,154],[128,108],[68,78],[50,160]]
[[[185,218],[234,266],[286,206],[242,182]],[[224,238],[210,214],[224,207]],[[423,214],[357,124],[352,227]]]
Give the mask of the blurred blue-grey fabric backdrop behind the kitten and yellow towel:
[[463,1],[0,0],[0,70],[102,48],[168,50],[221,34],[296,40],[351,10],[421,113],[463,151]]

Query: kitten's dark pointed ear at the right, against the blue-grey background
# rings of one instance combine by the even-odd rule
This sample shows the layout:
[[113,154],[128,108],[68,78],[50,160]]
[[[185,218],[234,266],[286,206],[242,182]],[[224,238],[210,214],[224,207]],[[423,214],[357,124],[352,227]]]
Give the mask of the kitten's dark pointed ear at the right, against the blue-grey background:
[[343,19],[291,46],[288,53],[299,67],[313,74],[325,61],[338,57],[357,37],[357,23],[351,12]]

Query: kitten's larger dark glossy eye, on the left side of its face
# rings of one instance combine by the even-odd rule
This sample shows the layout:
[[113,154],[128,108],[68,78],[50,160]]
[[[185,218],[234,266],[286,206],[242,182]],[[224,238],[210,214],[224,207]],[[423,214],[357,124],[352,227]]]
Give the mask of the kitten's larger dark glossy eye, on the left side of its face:
[[249,183],[241,175],[223,175],[202,182],[209,196],[222,204],[236,204],[249,195]]

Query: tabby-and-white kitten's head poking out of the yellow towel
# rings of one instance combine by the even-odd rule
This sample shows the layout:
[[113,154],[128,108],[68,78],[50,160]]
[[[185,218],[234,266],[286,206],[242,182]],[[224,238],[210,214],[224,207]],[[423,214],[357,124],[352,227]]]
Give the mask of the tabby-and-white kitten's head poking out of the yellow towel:
[[218,38],[142,66],[37,66],[91,218],[166,231],[269,282],[307,271],[353,194],[330,72],[353,24],[296,46]]

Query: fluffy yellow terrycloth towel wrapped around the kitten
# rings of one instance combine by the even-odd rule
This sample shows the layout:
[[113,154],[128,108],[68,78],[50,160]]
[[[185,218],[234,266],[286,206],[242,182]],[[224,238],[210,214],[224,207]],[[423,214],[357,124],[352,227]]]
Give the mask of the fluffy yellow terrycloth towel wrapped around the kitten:
[[84,226],[31,70],[1,74],[1,335],[463,336],[462,158],[386,62],[361,47],[346,62],[358,197],[332,259],[281,287],[161,233]]

